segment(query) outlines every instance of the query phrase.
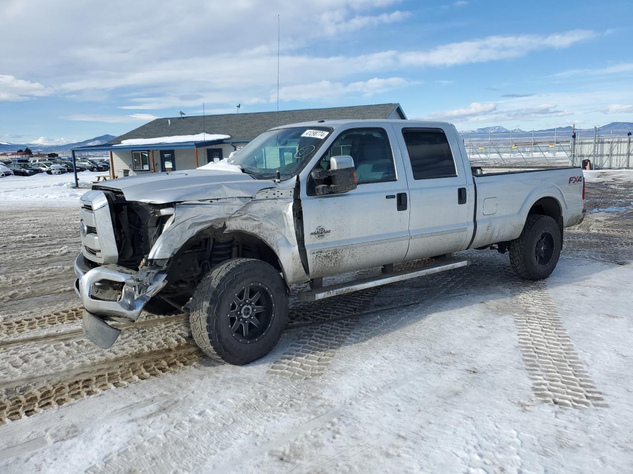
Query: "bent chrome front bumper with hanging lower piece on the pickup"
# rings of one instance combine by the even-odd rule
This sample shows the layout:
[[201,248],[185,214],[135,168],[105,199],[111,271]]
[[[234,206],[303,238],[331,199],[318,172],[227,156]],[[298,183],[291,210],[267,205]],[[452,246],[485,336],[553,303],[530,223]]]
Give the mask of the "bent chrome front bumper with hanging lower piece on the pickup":
[[[84,304],[84,334],[104,349],[110,348],[121,333],[106,321],[135,322],[149,299],[156,295],[166,282],[166,274],[159,270],[134,271],[120,265],[103,265],[92,268],[83,254],[75,258],[75,291]],[[112,282],[121,287],[115,298],[96,297],[97,283]],[[118,293],[118,294],[116,294]],[[110,293],[112,295],[112,293]]]

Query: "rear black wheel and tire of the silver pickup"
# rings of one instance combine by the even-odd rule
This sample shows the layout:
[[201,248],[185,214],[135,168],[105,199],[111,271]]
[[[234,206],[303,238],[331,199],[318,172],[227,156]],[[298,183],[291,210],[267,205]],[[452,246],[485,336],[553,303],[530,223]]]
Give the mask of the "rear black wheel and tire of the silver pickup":
[[521,235],[508,245],[512,269],[527,280],[547,278],[556,268],[562,246],[556,221],[533,214],[525,221]]

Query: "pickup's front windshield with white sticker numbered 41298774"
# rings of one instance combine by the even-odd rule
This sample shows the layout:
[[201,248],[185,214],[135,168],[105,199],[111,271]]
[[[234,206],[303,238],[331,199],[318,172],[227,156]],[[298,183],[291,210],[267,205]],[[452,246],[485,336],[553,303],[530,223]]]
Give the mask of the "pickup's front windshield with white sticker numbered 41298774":
[[332,132],[328,127],[293,127],[268,130],[223,160],[241,166],[257,179],[285,178],[299,173]]

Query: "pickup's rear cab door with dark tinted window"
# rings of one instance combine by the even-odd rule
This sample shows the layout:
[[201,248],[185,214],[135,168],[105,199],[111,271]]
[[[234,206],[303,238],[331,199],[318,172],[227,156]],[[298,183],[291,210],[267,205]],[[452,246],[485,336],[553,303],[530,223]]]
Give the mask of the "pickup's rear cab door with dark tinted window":
[[403,154],[411,217],[406,260],[467,247],[471,186],[455,131],[444,125],[411,128],[394,124]]

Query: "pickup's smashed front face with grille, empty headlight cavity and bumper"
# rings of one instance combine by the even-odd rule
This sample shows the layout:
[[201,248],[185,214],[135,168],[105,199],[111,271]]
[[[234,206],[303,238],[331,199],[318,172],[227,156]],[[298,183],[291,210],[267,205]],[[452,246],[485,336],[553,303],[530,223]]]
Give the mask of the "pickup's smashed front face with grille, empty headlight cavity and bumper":
[[166,284],[165,269],[143,267],[173,208],[126,202],[113,191],[82,196],[82,253],[75,259],[75,291],[85,308],[85,335],[110,348],[120,329],[108,322],[135,322],[147,301]]

